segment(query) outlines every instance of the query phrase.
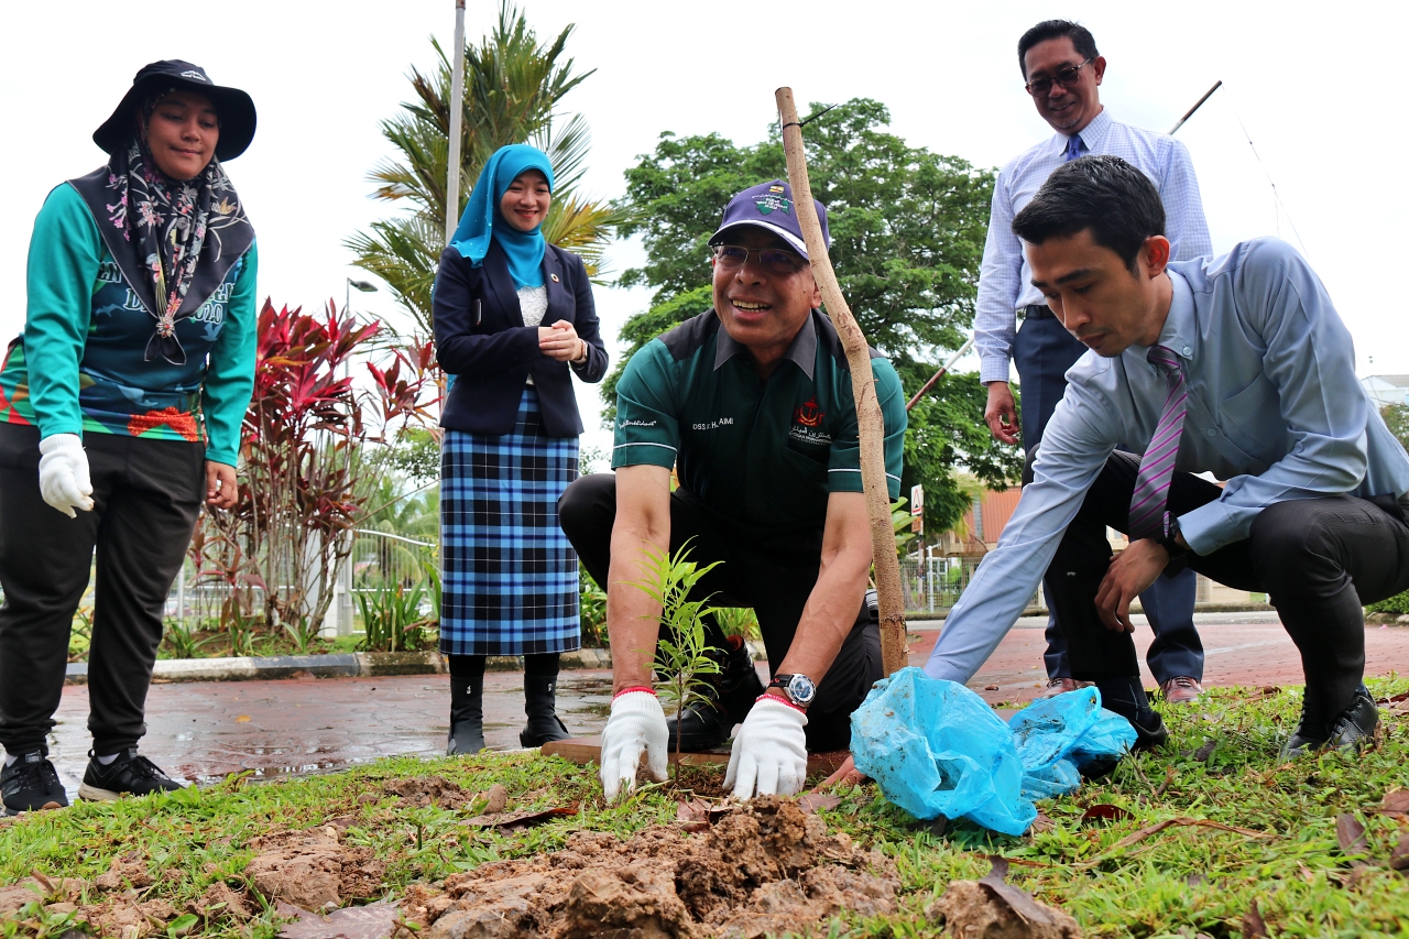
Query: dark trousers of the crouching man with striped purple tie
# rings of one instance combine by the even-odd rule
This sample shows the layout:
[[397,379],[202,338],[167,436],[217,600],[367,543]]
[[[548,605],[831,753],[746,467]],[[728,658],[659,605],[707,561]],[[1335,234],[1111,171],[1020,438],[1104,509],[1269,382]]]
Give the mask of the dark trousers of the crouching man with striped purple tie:
[[[1130,495],[1140,458],[1113,453],[1067,529],[1051,567],[1048,595],[1071,654],[1072,677],[1140,674],[1127,633],[1096,615],[1096,589],[1110,565],[1106,526],[1129,533]],[[1169,512],[1182,515],[1222,489],[1175,472]],[[1199,574],[1243,591],[1267,592],[1302,654],[1308,729],[1324,729],[1350,706],[1365,671],[1364,603],[1409,589],[1409,524],[1392,499],[1348,495],[1278,502],[1258,513],[1250,537],[1208,556],[1189,554]]]

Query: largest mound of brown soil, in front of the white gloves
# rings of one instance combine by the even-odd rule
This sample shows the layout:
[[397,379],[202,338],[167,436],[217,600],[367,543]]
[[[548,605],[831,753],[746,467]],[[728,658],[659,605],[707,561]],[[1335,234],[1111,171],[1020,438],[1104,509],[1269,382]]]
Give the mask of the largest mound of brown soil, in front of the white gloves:
[[690,836],[683,823],[627,842],[576,832],[534,859],[485,864],[413,888],[406,919],[427,939],[755,939],[852,911],[895,912],[895,864],[797,802],[759,797]]

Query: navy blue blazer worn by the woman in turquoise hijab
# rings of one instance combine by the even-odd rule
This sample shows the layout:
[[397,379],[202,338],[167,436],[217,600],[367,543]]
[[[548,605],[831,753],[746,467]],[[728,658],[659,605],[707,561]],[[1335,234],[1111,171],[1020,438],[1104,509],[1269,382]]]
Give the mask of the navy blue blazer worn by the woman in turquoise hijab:
[[542,255],[542,272],[548,312],[541,326],[558,320],[572,323],[578,337],[588,344],[588,361],[582,365],[569,367],[538,351],[538,327],[524,326],[519,292],[497,243],[490,241],[478,268],[471,266],[454,245],[441,254],[431,299],[435,358],[455,376],[441,412],[441,427],[507,434],[514,429],[524,382],[533,375],[544,431],[550,437],[582,433],[569,368],[585,382],[599,382],[607,374],[607,350],[592,306],[592,283],[582,258],[551,244]]

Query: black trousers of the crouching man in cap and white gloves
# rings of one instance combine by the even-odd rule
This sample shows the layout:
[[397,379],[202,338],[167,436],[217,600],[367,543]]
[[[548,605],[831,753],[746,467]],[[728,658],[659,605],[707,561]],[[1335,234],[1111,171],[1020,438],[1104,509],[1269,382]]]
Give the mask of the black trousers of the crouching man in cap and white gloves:
[[[562,530],[599,585],[606,585],[612,563],[616,481],[607,472],[582,477],[558,501]],[[821,529],[741,524],[676,489],[671,493],[671,553],[685,541],[690,541],[692,561],[723,561],[700,578],[690,599],[713,595],[710,602],[716,606],[751,606],[764,636],[769,671],[775,671],[792,646],[821,570]],[[719,625],[707,622],[706,629],[710,646],[723,649]],[[881,629],[862,602],[855,626],[807,708],[807,749],[814,753],[850,749],[851,712],[881,678]]]

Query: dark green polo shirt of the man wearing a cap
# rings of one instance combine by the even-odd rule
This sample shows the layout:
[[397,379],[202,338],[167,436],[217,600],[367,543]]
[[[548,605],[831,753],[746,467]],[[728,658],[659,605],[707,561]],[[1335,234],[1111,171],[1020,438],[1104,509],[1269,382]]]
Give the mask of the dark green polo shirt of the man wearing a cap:
[[[872,350],[890,499],[900,493],[905,398]],[[831,320],[813,310],[765,382],[713,310],[651,340],[617,385],[612,468],[676,467],[681,485],[726,517],[821,527],[827,495],[861,492],[851,369]]]

